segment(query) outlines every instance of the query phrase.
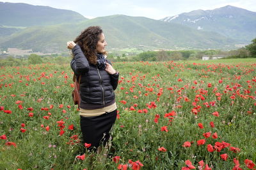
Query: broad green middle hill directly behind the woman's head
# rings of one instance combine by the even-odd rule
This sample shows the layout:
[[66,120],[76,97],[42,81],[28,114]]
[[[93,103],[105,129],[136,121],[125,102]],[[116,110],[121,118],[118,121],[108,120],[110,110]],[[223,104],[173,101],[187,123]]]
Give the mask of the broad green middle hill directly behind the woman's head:
[[232,39],[214,32],[197,31],[184,25],[145,17],[112,15],[77,24],[28,27],[9,36],[0,46],[32,48],[40,52],[67,52],[66,42],[90,25],[100,25],[106,34],[109,50],[122,48],[234,48]]

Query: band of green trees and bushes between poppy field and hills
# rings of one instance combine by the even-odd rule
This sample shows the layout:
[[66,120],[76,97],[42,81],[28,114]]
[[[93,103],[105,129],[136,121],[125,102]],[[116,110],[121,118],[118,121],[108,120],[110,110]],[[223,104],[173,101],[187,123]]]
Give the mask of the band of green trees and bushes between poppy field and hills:
[[[225,59],[230,58],[256,58],[256,38],[252,40],[250,45],[243,48],[231,51],[221,50],[179,50],[179,51],[147,51],[141,52],[138,55],[114,55],[109,54],[108,59],[111,61],[165,61],[165,60],[199,60],[204,55],[224,55],[228,56]],[[41,63],[56,63],[56,64],[68,64],[71,60],[71,56],[61,55],[47,55],[40,56],[35,53],[27,57],[15,58],[8,56],[6,59],[0,59],[0,66],[26,66],[28,64],[41,64]]]

